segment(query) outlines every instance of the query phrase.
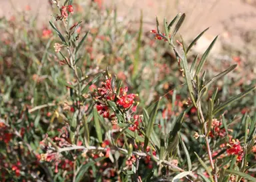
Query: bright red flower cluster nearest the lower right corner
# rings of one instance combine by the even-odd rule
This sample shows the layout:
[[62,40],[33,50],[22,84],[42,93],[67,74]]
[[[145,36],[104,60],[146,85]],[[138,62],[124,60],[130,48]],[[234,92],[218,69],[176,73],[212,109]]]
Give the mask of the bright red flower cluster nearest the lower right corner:
[[229,155],[237,155],[237,161],[241,161],[243,159],[243,148],[241,147],[238,139],[232,139],[227,146],[227,153]]

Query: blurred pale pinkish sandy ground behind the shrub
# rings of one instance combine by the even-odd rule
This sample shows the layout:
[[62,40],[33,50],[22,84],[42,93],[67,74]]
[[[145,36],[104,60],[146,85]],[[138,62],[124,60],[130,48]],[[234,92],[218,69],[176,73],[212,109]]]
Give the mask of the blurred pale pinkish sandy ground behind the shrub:
[[[0,17],[13,15],[14,9],[39,13],[41,21],[50,16],[48,0],[0,0]],[[82,0],[81,0],[82,1]],[[89,0],[83,0],[89,1]],[[172,19],[177,13],[186,13],[181,33],[191,39],[205,28],[211,27],[205,39],[220,35],[230,44],[243,46],[243,35],[256,31],[256,0],[102,0],[104,6],[116,6],[119,17],[139,19],[143,11],[144,31],[155,28],[155,15]],[[135,25],[136,26],[136,25]],[[240,45],[241,44],[241,45]]]

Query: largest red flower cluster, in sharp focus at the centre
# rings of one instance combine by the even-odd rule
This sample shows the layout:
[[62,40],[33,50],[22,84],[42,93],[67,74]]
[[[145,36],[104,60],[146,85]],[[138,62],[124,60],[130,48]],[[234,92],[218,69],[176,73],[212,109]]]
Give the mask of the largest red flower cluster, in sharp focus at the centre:
[[[120,88],[120,94],[117,95],[117,89],[112,88],[111,86],[111,78],[108,78],[106,82],[103,82],[102,87],[97,88],[95,91],[96,92],[94,93],[94,98],[97,100],[97,111],[99,114],[103,115],[104,118],[109,118],[111,120],[113,120],[115,114],[110,115],[107,100],[115,102],[115,104],[117,104],[121,110],[129,110],[132,108],[134,99],[137,96],[137,94],[127,94],[127,87]],[[135,108],[136,106],[132,108],[133,112],[135,111]]]

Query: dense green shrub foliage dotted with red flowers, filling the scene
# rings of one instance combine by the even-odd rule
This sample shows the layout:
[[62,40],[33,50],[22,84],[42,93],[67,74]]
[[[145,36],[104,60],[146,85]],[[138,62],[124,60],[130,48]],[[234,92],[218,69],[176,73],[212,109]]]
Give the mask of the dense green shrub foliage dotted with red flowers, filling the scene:
[[256,180],[255,80],[207,62],[217,37],[195,55],[207,29],[187,46],[185,14],[153,41],[142,14],[133,32],[99,3],[51,6],[43,29],[1,19],[1,181]]

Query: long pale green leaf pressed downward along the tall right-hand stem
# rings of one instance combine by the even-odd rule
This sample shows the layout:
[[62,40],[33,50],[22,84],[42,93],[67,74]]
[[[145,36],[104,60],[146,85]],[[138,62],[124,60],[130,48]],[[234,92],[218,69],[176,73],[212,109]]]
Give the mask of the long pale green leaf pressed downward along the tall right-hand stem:
[[191,100],[194,104],[194,106],[197,108],[197,104],[195,104],[195,98],[193,96],[193,85],[192,85],[192,80],[191,80],[191,74],[189,72],[189,66],[187,66],[187,57],[185,56],[185,54],[183,54],[183,58],[181,59],[181,62],[183,64],[183,68],[184,68],[184,72],[185,72],[185,79],[187,82],[187,88],[189,89],[189,94],[191,97]]

